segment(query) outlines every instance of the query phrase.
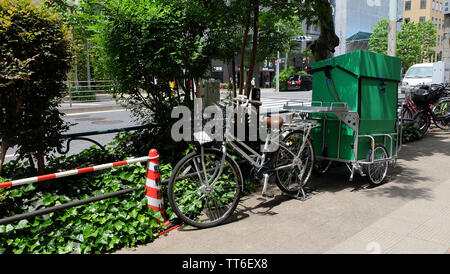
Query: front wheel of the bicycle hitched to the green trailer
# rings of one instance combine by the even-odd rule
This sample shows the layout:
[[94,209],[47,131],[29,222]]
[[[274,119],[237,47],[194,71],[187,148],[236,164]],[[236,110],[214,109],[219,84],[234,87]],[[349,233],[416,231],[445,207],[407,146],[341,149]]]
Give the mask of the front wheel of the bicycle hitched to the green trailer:
[[239,167],[231,157],[223,158],[217,149],[205,149],[203,155],[195,151],[175,166],[168,185],[169,203],[188,225],[216,226],[233,214],[242,183]]

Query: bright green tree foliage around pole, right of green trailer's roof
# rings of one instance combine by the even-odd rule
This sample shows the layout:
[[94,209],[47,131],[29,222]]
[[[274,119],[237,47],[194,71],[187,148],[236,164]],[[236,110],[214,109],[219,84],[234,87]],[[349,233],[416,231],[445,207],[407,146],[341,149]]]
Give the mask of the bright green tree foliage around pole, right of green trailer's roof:
[[[370,36],[371,51],[387,54],[389,20],[378,21]],[[415,63],[422,63],[434,55],[436,27],[431,21],[408,22],[397,32],[397,56],[402,59],[403,71]]]

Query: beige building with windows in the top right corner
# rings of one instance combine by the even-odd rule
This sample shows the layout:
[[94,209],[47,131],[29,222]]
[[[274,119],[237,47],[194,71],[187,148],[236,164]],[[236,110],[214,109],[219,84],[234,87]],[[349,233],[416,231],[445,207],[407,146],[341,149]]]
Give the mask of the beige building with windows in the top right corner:
[[405,0],[405,22],[431,21],[436,26],[436,48],[431,62],[442,60],[442,40],[444,39],[444,0]]

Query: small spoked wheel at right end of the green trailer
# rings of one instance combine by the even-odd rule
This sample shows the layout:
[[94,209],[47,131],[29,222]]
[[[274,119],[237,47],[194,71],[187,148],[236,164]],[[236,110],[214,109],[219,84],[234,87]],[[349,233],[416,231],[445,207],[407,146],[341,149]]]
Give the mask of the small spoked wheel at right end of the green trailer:
[[[372,162],[388,158],[388,153],[383,145],[377,144],[374,147],[374,159],[372,160],[372,149],[367,153],[366,161]],[[365,165],[365,173],[369,177],[370,183],[380,185],[385,182],[389,169],[388,161],[380,161]]]

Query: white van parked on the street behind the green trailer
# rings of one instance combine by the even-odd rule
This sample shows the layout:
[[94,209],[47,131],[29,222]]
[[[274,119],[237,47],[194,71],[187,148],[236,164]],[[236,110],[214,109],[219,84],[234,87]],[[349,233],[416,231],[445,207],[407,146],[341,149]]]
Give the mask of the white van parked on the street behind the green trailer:
[[402,92],[417,85],[430,85],[433,80],[433,63],[415,64],[408,69],[402,82]]

